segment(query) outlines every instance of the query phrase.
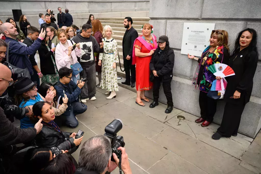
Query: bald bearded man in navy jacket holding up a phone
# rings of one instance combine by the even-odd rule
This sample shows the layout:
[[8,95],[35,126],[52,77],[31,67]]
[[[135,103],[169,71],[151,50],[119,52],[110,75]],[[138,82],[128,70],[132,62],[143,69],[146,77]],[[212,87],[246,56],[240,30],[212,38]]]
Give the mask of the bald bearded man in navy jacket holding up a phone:
[[31,46],[27,47],[26,45],[21,45],[18,42],[16,39],[18,32],[16,28],[9,22],[2,24],[0,30],[5,35],[5,42],[9,43],[9,63],[18,68],[27,68],[27,70],[30,72],[30,75],[32,75],[33,68],[28,55],[34,54],[38,48],[40,48],[41,42],[45,37],[45,31],[42,31],[39,34],[38,39],[35,40]]

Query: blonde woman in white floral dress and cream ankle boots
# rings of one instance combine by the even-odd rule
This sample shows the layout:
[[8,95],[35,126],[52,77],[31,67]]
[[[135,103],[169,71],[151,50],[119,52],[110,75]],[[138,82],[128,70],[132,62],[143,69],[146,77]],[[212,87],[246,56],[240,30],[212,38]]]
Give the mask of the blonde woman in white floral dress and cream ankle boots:
[[116,63],[119,62],[118,46],[114,38],[111,37],[112,29],[109,25],[103,28],[104,52],[100,53],[98,65],[102,65],[102,80],[100,88],[106,89],[108,92],[105,95],[110,94],[106,99],[112,99],[116,97],[116,92],[119,90],[117,82],[117,69]]

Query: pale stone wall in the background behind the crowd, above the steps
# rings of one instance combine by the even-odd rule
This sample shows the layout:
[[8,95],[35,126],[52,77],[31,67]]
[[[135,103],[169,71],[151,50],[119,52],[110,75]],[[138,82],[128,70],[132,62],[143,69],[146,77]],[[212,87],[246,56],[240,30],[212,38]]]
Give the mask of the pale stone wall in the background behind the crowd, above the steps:
[[[0,0],[0,19],[5,21],[8,18],[13,18],[12,9],[21,9],[22,14],[27,16],[32,26],[40,27],[38,24],[39,13],[46,14],[46,10],[51,9],[57,19],[58,7],[61,7],[63,12],[68,8],[69,13],[75,19],[74,24],[80,27],[80,25],[87,22],[90,14],[93,14],[94,18],[106,18],[122,17],[119,15],[129,12],[127,14],[133,17],[145,17],[147,16],[146,11],[149,11],[149,0]],[[144,13],[139,14],[137,11],[143,11]]]

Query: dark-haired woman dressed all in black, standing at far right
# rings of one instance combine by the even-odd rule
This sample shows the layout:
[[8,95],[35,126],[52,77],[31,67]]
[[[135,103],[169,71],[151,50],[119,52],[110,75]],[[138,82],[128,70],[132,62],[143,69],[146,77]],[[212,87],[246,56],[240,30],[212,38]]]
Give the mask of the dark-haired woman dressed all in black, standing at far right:
[[[213,139],[237,136],[241,115],[246,103],[250,100],[257,61],[257,33],[247,28],[238,34],[235,50],[228,62],[228,66],[234,70],[235,75],[227,78],[228,84],[224,96],[227,103],[221,126],[212,136]],[[216,77],[216,79],[222,78]]]

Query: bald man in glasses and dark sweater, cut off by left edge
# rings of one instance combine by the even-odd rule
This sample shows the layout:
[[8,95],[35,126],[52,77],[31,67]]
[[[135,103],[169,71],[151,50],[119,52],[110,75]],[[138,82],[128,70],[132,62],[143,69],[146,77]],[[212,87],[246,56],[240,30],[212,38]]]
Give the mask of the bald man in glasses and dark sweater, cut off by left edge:
[[[0,63],[0,69],[0,96],[2,96],[8,85],[14,82],[11,78],[11,71],[7,66]],[[33,140],[36,134],[42,130],[43,124],[41,124],[41,121],[42,119],[34,127],[19,129],[6,118],[4,110],[0,107],[0,146],[5,147]]]

